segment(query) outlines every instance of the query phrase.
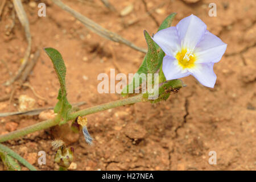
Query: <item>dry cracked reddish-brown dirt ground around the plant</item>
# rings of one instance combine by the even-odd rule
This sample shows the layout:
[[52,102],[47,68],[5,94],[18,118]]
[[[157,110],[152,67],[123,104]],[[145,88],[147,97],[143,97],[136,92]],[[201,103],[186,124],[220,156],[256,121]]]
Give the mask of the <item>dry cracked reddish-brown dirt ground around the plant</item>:
[[[34,98],[34,108],[56,104],[59,82],[44,47],[56,48],[64,58],[71,103],[85,101],[83,109],[121,98],[118,94],[97,92],[98,74],[109,73],[110,68],[125,74],[135,73],[144,53],[101,38],[51,1],[42,1],[47,5],[46,17],[38,16],[39,1],[36,6],[32,1],[23,2],[30,21],[32,56],[37,48],[41,50],[27,82],[46,101],[36,97],[26,86],[2,85],[18,71],[27,47],[23,27],[17,17],[13,20],[13,5],[7,1],[0,20],[0,59],[3,60],[0,63],[0,96],[13,93],[13,97],[0,102],[1,113],[18,111],[20,95]],[[199,16],[210,32],[228,44],[222,60],[214,65],[216,85],[214,89],[206,88],[189,76],[182,78],[187,87],[166,102],[139,103],[88,115],[88,130],[94,138],[92,146],[85,143],[82,134],[63,134],[56,127],[4,144],[40,170],[57,169],[53,162],[55,151],[51,147],[51,140],[55,138],[64,139],[68,146],[75,148],[77,170],[256,169],[256,1],[147,0],[147,9],[153,10],[155,20],[147,15],[141,0],[109,0],[118,13],[107,9],[99,0],[63,2],[143,48],[147,47],[143,30],[155,33],[156,24],[167,15],[177,13],[174,26],[185,16]],[[217,5],[216,17],[208,15],[208,5],[212,2]],[[119,12],[131,4],[133,11],[120,16]],[[127,26],[130,20],[138,17],[141,19],[137,23]],[[38,115],[0,118],[0,134],[40,121]],[[46,165],[39,166],[39,151],[46,151]],[[216,151],[216,165],[208,163],[210,151]],[[0,162],[0,170],[3,169]]]

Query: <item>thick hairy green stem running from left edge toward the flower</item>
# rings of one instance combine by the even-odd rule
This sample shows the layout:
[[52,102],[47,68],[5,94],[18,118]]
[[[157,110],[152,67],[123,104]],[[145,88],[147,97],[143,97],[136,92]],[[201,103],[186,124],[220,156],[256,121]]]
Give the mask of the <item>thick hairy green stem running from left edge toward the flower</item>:
[[[77,111],[75,113],[69,114],[68,115],[68,121],[72,120],[72,119],[75,119],[79,115],[80,116],[85,116],[85,115],[88,115],[88,114],[97,113],[99,111],[111,109],[111,108],[114,108],[114,107],[134,104],[134,103],[143,102],[143,101],[144,101],[143,94],[138,94],[137,96],[125,98],[123,100],[113,101],[113,102],[109,102],[109,103],[106,103],[106,104],[89,107],[88,109],[80,110],[80,111]],[[49,127],[58,125],[59,122],[60,122],[60,116],[57,115],[53,119],[48,119],[46,121],[36,123],[35,125],[24,127],[23,129],[16,130],[16,131],[13,131],[11,133],[2,135],[2,136],[0,136],[0,143],[5,142],[6,140],[11,140],[11,139],[14,139],[14,138],[23,137],[24,135],[33,133],[35,131],[48,129]]]

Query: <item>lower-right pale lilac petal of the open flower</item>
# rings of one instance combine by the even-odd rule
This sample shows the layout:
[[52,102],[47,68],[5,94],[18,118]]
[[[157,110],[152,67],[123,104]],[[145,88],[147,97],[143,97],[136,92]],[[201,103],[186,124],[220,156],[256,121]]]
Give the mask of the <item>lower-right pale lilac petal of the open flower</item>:
[[202,85],[213,88],[216,82],[217,76],[213,71],[214,63],[208,64],[196,64],[194,68],[188,69]]

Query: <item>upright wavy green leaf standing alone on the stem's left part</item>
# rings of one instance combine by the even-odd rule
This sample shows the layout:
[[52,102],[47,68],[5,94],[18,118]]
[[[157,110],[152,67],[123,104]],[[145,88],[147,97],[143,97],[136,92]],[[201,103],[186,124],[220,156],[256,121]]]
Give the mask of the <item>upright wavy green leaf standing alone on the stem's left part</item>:
[[55,113],[59,113],[61,115],[61,118],[63,119],[63,121],[60,122],[61,125],[67,122],[68,112],[72,108],[71,104],[68,102],[67,90],[65,87],[66,67],[59,51],[53,48],[45,48],[44,51],[46,51],[47,55],[52,60],[53,67],[60,82],[60,90],[57,97],[59,102],[57,102],[54,111]]

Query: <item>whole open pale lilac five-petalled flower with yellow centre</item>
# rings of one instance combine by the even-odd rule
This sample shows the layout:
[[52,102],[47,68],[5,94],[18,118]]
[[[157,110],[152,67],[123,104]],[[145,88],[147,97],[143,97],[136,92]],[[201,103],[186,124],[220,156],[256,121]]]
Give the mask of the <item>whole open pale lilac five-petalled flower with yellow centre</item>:
[[181,19],[176,27],[158,31],[152,39],[166,53],[166,80],[192,75],[204,86],[214,87],[217,77],[213,65],[221,60],[227,44],[210,33],[200,18],[192,14]]

